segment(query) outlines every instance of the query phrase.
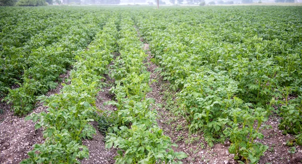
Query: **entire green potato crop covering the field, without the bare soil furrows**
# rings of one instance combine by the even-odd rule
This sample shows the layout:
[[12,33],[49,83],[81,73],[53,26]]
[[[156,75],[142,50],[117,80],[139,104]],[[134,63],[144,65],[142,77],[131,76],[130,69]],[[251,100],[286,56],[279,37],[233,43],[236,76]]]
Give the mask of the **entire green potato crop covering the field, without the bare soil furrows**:
[[[150,60],[176,91],[172,111],[186,118],[190,131],[202,131],[209,146],[230,140],[236,160],[256,163],[267,146],[255,140],[263,138],[259,128],[272,111],[282,117],[283,133],[296,137],[287,145],[302,144],[299,7],[112,11],[0,11],[0,96],[13,103],[16,115],[29,113],[36,97],[74,68],[60,94],[38,98],[48,112],[29,118],[45,129],[46,141],[34,146],[25,163],[77,163],[87,157],[81,140],[95,133],[92,120],[107,134],[106,146],[119,148],[117,162],[174,163],[186,157],[172,150],[175,145],[157,125],[154,100],[146,98],[150,73],[135,27],[149,43]],[[95,107],[95,95],[117,50],[120,56],[110,66],[115,100],[107,104],[118,110],[105,113]],[[20,87],[11,89],[16,84]]]

